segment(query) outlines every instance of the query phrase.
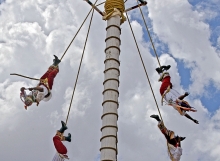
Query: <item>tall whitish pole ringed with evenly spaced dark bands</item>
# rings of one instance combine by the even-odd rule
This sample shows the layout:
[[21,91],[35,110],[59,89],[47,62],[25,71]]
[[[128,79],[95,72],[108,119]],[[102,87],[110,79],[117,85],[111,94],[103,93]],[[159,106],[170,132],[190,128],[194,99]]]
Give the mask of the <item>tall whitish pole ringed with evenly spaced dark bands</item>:
[[117,120],[118,120],[118,97],[119,97],[119,75],[120,75],[120,34],[121,16],[115,15],[107,20],[106,27],[106,49],[103,91],[103,115],[102,115],[102,137],[101,161],[117,160]]

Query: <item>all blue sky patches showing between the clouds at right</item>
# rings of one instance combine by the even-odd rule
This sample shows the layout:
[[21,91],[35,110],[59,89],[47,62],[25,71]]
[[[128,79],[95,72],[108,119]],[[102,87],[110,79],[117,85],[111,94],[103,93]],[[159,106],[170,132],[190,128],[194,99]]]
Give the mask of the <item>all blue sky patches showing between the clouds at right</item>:
[[[215,47],[216,49],[220,49],[220,46],[218,46],[218,42],[217,42],[217,39],[220,36],[220,16],[219,16],[220,15],[220,8],[219,8],[220,4],[217,5],[217,3],[213,3],[212,1],[210,2],[206,0],[202,0],[202,1],[201,0],[189,0],[189,3],[192,5],[192,8],[194,10],[197,10],[197,11],[212,10],[213,12],[217,13],[215,17],[205,18],[204,22],[206,22],[210,26],[210,30],[211,30],[210,42],[212,43],[212,46]],[[146,7],[143,9],[143,11],[145,11],[145,13],[148,13],[148,9],[146,10],[145,9]],[[206,13],[206,14],[209,14],[209,13]],[[160,41],[159,40],[160,38],[157,37],[157,35],[155,35],[155,33],[152,32],[152,21],[149,19],[149,17],[146,17],[146,16],[145,16],[145,19],[147,21],[147,25],[150,30],[151,36],[153,37],[153,41],[156,45],[158,45],[156,49],[157,54],[160,56],[163,53],[169,53],[167,44]],[[142,24],[143,32],[144,32],[144,39],[150,43],[148,33],[145,30],[142,18],[141,17],[137,18],[136,16],[133,16],[132,20],[136,20],[140,24]],[[154,51],[152,50],[152,48],[150,52],[154,56]],[[190,69],[186,67],[185,62],[183,60],[180,60],[180,59],[175,59],[175,60],[178,63],[177,68],[181,76],[181,85],[183,86],[183,89],[188,91],[189,86],[192,83],[190,81],[191,79]],[[200,99],[203,105],[208,109],[208,111],[211,113],[214,113],[220,107],[220,101],[218,101],[219,96],[220,96],[220,91],[215,88],[212,82],[210,82],[209,85],[206,86],[205,89],[206,89],[207,94],[200,97]],[[195,97],[195,98],[198,98],[198,97]]]

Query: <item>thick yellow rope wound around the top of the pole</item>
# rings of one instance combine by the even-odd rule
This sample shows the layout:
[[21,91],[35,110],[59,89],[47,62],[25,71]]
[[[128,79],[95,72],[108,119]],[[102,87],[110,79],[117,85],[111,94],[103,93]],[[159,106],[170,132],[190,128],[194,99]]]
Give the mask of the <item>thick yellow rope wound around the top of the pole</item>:
[[115,11],[118,9],[121,12],[121,24],[126,20],[123,12],[125,10],[124,0],[106,0],[105,2],[105,13],[104,20],[108,20]]

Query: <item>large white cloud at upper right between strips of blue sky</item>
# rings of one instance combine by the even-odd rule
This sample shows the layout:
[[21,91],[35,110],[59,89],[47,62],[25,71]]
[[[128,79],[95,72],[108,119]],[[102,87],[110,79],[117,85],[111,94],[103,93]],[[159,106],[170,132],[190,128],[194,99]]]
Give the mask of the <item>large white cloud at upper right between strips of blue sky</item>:
[[187,1],[169,0],[149,3],[149,13],[154,32],[168,45],[170,54],[191,69],[190,91],[201,95],[211,78],[219,82],[219,57],[209,41],[209,25],[200,13],[193,11]]

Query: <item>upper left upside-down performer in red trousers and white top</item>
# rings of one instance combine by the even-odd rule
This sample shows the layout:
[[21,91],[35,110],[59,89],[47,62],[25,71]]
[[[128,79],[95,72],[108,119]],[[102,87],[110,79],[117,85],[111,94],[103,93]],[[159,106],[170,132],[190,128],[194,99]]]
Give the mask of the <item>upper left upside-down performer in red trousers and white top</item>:
[[[21,87],[21,94],[20,98],[25,104],[25,109],[27,110],[27,106],[31,106],[33,102],[39,105],[39,102],[44,100],[48,101],[52,97],[52,86],[54,78],[56,77],[57,73],[59,72],[58,64],[60,60],[55,56],[53,60],[53,65],[51,65],[47,72],[40,78],[40,82],[36,87],[33,88],[25,88]],[[31,91],[29,94],[26,94],[25,90]]]

